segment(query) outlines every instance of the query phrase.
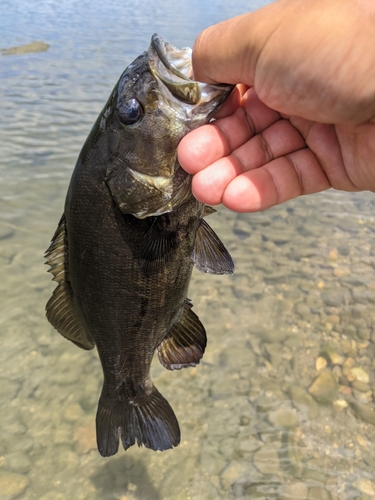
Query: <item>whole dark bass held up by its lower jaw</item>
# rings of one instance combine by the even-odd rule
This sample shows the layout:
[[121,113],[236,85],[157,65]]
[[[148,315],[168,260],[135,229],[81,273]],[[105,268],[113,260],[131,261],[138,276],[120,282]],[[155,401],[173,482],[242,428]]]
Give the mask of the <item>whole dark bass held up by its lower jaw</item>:
[[211,120],[233,86],[192,79],[191,49],[154,34],[124,71],[79,154],[63,215],[45,256],[57,287],[47,319],[103,370],[99,453],[180,442],[168,401],[150,378],[196,366],[206,331],[192,310],[193,266],[232,274],[233,260],[179,165],[181,138]]

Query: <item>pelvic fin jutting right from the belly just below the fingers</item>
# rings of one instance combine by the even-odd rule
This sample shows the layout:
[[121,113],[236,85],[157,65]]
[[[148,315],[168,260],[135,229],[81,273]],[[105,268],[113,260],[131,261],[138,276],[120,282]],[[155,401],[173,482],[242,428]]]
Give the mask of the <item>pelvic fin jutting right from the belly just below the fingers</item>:
[[228,250],[220,241],[215,231],[203,219],[195,234],[191,260],[195,267],[204,273],[234,273],[234,263]]

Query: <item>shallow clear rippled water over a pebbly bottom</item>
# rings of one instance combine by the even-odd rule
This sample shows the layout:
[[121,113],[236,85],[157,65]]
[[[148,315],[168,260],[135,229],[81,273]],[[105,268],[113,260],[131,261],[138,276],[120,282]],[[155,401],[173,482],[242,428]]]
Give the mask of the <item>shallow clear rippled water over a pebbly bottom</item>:
[[159,32],[191,45],[266,2],[3,1],[0,45],[0,499],[375,498],[372,194],[327,192],[210,217],[233,277],[195,272],[208,347],[153,378],[178,448],[96,451],[95,352],[46,321],[43,253],[79,150],[114,83]]

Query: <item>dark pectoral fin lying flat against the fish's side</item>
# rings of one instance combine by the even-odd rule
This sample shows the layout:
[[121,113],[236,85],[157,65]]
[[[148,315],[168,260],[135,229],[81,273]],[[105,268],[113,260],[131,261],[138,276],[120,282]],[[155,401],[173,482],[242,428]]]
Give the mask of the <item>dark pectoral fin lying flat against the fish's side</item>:
[[[162,227],[159,227],[159,226]],[[139,250],[139,263],[147,271],[158,268],[170,260],[172,251],[177,246],[177,233],[163,227],[157,218],[144,235]]]

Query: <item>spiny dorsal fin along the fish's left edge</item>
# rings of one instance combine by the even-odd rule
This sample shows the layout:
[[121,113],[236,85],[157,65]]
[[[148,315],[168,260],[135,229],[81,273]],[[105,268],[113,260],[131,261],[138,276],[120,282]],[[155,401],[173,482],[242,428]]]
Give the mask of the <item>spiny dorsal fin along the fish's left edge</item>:
[[48,321],[68,340],[82,349],[93,349],[95,346],[91,336],[87,335],[72,304],[72,291],[66,281],[67,266],[67,236],[65,216],[60,219],[52,242],[45,253],[46,264],[51,266],[48,271],[53,274],[53,281],[58,283],[47,302],[46,314]]

